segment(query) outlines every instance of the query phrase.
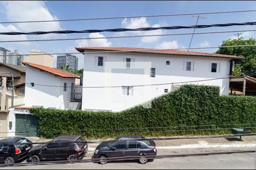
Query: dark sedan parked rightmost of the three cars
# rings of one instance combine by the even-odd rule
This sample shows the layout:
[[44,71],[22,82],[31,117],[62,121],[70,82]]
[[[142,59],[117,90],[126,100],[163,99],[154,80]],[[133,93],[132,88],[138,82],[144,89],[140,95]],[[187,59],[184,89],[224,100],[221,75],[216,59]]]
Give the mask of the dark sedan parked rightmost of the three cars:
[[[155,142],[138,136],[122,136],[113,141],[101,143],[96,147],[92,159],[101,159],[99,163],[106,164],[106,158],[123,156],[141,156],[139,163],[145,164],[148,159],[144,156],[155,156]],[[152,158],[151,158],[152,160]]]

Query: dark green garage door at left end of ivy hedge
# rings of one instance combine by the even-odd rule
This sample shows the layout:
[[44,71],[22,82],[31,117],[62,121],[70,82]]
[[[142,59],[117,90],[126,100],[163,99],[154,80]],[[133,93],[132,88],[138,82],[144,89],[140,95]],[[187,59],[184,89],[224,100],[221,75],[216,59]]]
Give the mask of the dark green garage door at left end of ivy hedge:
[[31,114],[15,114],[15,135],[24,137],[38,136],[38,118]]

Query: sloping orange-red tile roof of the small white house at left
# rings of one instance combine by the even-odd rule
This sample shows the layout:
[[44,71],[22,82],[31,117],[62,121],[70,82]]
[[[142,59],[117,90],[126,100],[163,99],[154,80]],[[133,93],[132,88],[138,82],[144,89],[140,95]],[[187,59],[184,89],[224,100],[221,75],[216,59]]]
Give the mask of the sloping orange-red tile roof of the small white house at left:
[[47,66],[42,66],[42,65],[36,65],[35,63],[30,63],[30,62],[22,62],[22,63],[26,66],[31,66],[31,67],[34,67],[34,68],[39,69],[39,70],[46,71],[46,72],[51,73],[51,74],[61,76],[63,78],[80,78],[80,76],[78,76],[76,74],[73,74],[73,73],[70,73],[70,72],[65,71],[65,70],[55,69],[55,68],[52,68],[52,67],[47,67]]

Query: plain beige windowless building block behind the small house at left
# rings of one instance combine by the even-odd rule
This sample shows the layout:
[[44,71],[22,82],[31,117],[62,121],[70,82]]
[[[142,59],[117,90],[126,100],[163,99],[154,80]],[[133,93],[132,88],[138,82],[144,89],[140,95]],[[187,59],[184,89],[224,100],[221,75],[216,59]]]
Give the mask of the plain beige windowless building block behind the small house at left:
[[29,56],[24,56],[23,61],[53,67],[53,56],[41,52],[40,50],[30,50]]

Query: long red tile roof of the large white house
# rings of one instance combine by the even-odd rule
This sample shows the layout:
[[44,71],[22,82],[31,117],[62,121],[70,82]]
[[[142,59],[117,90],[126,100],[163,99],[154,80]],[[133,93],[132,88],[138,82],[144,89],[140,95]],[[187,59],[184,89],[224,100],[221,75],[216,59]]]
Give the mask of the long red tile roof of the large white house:
[[[131,51],[136,53],[156,53],[156,54],[174,54],[174,55],[185,55],[185,56],[207,56],[207,57],[224,57],[224,58],[242,58],[238,56],[230,56],[225,54],[213,54],[213,53],[201,53],[201,52],[188,52],[184,50],[159,50],[151,48],[130,48],[130,47],[76,47],[79,52],[84,52],[84,50],[110,50],[110,51]],[[136,51],[144,50],[144,51]],[[150,51],[151,50],[151,51]]]

